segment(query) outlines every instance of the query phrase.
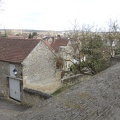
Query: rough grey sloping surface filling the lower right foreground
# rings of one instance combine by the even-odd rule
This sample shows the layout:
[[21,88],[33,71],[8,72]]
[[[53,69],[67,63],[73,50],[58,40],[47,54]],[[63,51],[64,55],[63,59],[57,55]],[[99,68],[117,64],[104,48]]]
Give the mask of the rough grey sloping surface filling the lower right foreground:
[[120,120],[120,64],[11,120]]

